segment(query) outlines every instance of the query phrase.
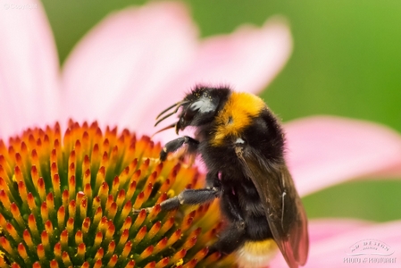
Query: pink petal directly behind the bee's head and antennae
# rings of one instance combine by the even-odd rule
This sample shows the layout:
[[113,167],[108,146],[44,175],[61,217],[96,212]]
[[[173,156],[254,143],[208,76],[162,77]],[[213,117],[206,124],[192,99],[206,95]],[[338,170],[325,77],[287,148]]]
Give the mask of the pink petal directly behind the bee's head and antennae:
[[229,85],[235,90],[253,93],[260,91],[287,63],[291,50],[288,26],[277,18],[267,21],[262,28],[246,26],[230,35],[205,39],[189,65],[183,66],[175,80],[166,85],[166,90],[155,96],[156,105],[146,112],[152,121],[149,116],[144,117],[140,128],[155,131],[152,126],[155,116],[164,107],[180,101],[199,83]]

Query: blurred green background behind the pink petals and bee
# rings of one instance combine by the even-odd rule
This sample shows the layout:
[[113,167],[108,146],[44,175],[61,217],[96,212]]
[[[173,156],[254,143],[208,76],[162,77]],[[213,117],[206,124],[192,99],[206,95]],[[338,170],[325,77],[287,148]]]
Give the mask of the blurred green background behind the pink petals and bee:
[[[335,114],[401,132],[401,2],[395,0],[189,0],[202,37],[243,23],[288,18],[294,52],[263,92],[283,121]],[[105,15],[128,0],[43,0],[61,63]],[[267,90],[268,89],[268,90]],[[305,197],[310,217],[401,219],[401,180],[352,181]]]

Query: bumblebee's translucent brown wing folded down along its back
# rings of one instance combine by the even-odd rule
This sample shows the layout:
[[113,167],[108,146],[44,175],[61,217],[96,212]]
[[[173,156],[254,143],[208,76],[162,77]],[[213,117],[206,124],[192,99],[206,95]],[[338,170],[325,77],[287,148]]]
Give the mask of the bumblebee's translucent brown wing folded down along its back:
[[289,267],[304,265],[309,237],[304,205],[286,164],[272,164],[253,147],[237,147],[243,172],[255,184],[272,235]]

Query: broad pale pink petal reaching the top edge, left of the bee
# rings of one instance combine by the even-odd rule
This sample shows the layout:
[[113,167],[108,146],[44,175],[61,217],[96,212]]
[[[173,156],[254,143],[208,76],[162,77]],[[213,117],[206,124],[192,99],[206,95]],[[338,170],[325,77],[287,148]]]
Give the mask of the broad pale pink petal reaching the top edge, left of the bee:
[[64,118],[138,126],[166,80],[187,64],[196,32],[179,3],[146,4],[110,15],[65,63]]

